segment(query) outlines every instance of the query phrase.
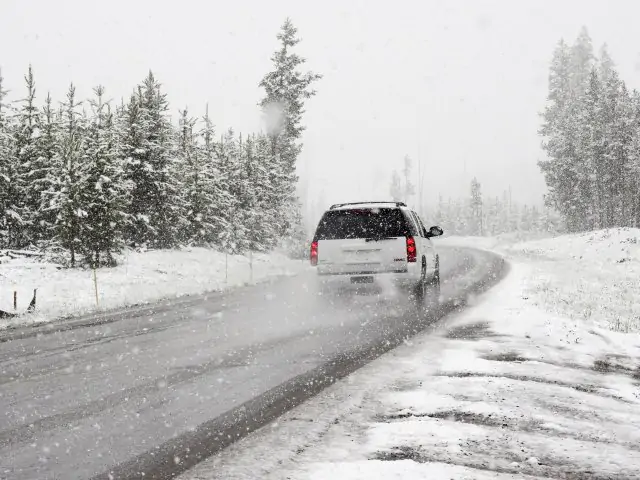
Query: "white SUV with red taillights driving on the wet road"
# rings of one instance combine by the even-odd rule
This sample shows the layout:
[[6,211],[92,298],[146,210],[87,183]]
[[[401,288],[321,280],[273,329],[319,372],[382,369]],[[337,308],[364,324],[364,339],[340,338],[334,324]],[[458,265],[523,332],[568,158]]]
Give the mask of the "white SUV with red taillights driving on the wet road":
[[427,230],[402,202],[333,205],[316,229],[311,265],[318,275],[348,276],[352,283],[389,277],[410,286],[419,300],[433,301],[440,295],[440,262],[431,238],[442,233]]

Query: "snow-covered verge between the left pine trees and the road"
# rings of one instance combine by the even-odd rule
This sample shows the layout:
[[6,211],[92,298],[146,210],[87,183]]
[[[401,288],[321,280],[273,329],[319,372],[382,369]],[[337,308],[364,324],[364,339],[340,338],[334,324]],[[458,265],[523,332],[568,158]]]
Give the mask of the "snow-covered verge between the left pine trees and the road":
[[37,289],[36,313],[14,319],[0,319],[0,329],[18,324],[49,321],[78,315],[222,290],[290,275],[308,268],[307,262],[283,254],[229,255],[204,248],[182,250],[129,251],[114,268],[96,272],[98,303],[91,270],[64,269],[53,263],[0,252],[0,310],[26,311]]

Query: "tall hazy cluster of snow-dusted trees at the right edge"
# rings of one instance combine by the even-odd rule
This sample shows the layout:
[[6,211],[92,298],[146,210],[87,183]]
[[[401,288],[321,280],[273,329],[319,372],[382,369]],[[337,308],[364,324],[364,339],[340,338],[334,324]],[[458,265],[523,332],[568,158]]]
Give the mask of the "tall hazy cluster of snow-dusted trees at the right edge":
[[640,92],[584,27],[555,48],[539,133],[548,204],[569,231],[640,226]]

